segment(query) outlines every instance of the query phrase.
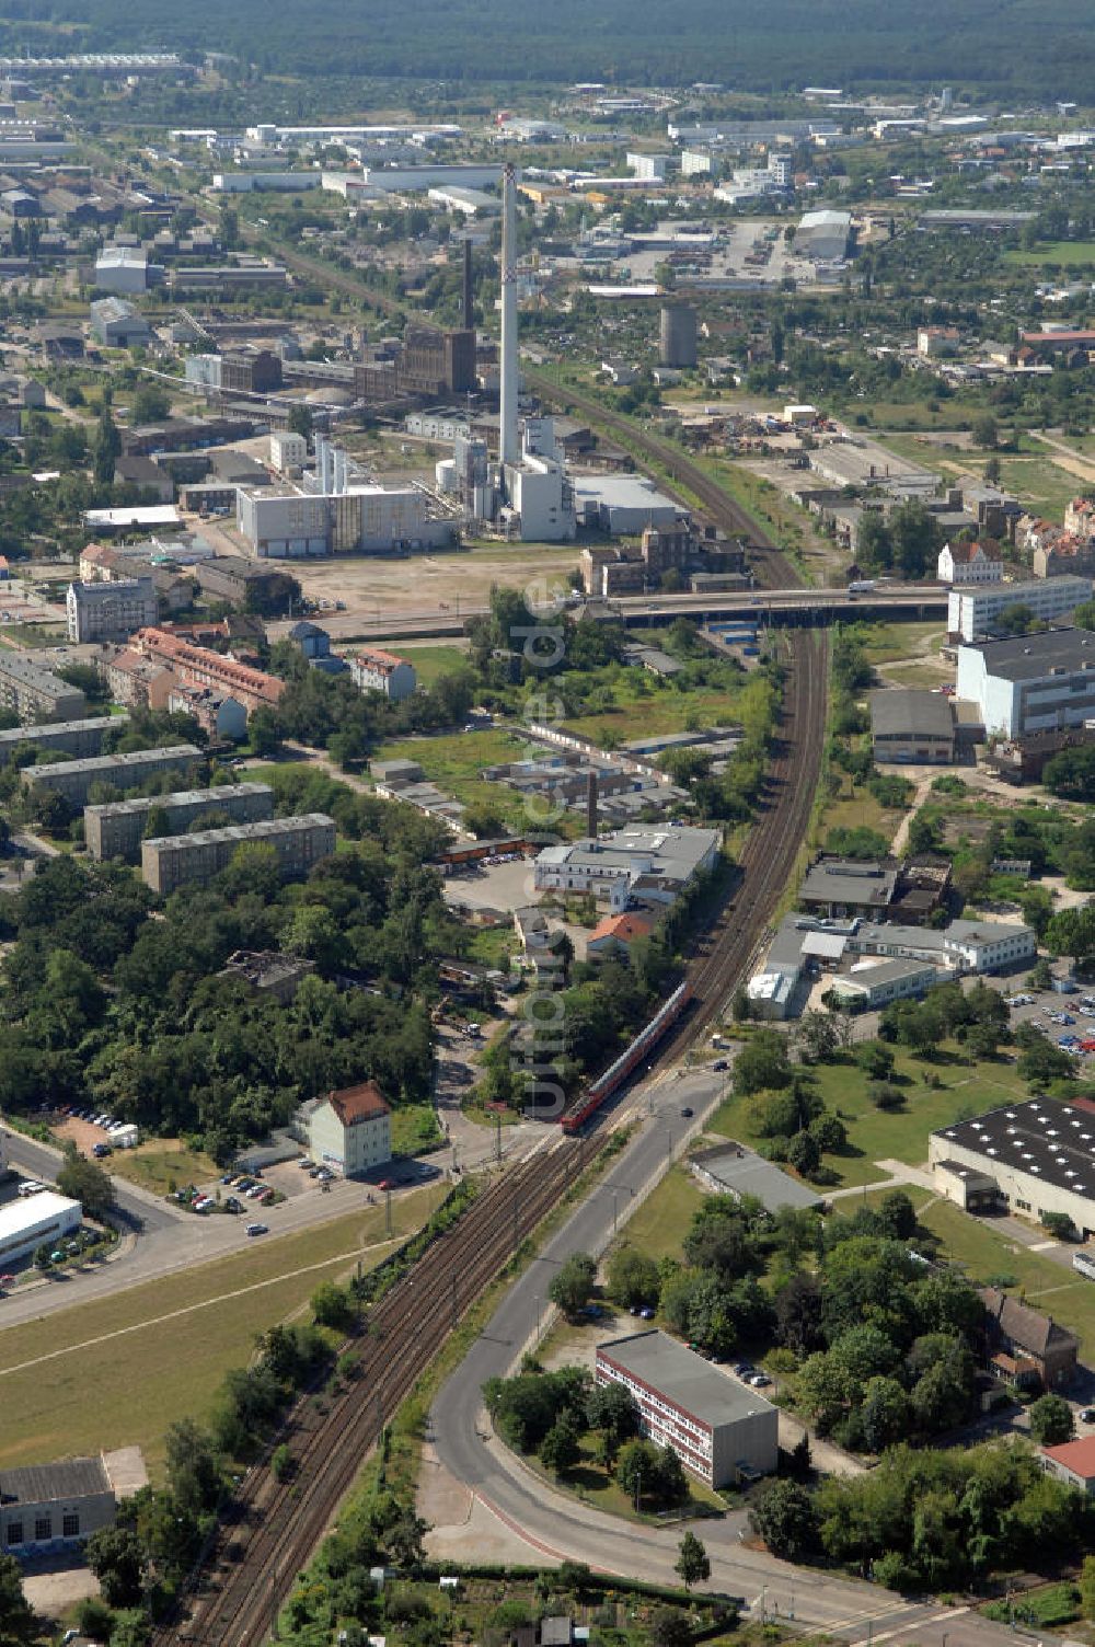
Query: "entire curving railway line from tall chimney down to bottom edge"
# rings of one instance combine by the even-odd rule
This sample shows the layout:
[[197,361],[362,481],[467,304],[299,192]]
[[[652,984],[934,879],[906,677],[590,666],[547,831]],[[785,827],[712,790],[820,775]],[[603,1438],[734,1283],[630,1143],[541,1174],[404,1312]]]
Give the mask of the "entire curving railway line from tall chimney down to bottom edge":
[[[535,379],[535,374],[530,374]],[[767,586],[799,585],[785,560],[716,481],[673,446],[636,432],[598,402],[540,384],[545,399],[566,399],[626,433],[725,530],[748,534],[753,563]],[[805,838],[825,730],[827,644],[797,631],[784,716],[769,772],[766,805],[741,855],[738,886],[710,926],[703,952],[688,967],[697,1010],[662,1046],[660,1067],[683,1039],[723,1008],[764,932]],[[494,1181],[418,1263],[369,1311],[347,1351],[357,1377],[324,1410],[303,1397],[285,1426],[295,1474],[277,1482],[257,1466],[240,1482],[216,1542],[183,1596],[176,1619],[156,1632],[156,1647],[260,1647],[272,1632],[295,1575],[306,1565],[382,1426],[430,1365],[445,1339],[504,1267],[520,1240],[550,1212],[593,1161],[608,1133],[566,1138]]]

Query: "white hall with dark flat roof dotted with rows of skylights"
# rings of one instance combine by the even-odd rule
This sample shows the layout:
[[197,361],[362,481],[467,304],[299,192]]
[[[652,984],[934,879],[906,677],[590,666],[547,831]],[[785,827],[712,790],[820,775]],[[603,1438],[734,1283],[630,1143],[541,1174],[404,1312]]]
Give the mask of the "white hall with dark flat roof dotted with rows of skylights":
[[[1052,1099],[1004,1103],[929,1138],[935,1187],[967,1209],[991,1196],[1013,1212],[1067,1214],[1095,1234],[1095,1115]],[[988,1181],[988,1183],[986,1183]]]

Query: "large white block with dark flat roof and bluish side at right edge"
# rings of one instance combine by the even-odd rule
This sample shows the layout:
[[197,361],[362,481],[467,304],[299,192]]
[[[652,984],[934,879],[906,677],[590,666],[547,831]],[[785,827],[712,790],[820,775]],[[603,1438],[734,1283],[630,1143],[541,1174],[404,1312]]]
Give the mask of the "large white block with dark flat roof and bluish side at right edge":
[[990,738],[1083,726],[1095,718],[1095,632],[1051,629],[960,646],[955,690],[978,707]]

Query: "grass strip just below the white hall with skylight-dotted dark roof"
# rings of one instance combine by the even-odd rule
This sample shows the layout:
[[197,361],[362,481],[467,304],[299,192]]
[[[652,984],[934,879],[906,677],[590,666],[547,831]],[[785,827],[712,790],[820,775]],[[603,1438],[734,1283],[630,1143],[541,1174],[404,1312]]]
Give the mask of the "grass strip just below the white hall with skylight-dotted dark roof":
[[[972,1219],[948,1201],[935,1201],[920,1222],[939,1235],[944,1252],[960,1263],[972,1281],[1014,1276],[1011,1291],[1062,1326],[1079,1332],[1083,1349],[1095,1346],[1095,1285],[1054,1263],[1046,1253],[1011,1240],[991,1219]],[[1082,1360],[1087,1355],[1082,1352]]]

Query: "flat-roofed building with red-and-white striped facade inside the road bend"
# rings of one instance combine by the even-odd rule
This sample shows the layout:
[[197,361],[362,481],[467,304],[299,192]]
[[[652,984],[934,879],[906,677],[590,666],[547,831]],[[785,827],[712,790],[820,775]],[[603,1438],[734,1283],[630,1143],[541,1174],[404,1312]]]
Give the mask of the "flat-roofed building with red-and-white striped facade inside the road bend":
[[642,1433],[672,1448],[710,1487],[769,1476],[779,1459],[779,1411],[762,1395],[657,1329],[598,1344],[599,1387],[622,1383]]

